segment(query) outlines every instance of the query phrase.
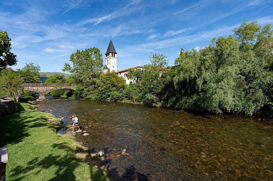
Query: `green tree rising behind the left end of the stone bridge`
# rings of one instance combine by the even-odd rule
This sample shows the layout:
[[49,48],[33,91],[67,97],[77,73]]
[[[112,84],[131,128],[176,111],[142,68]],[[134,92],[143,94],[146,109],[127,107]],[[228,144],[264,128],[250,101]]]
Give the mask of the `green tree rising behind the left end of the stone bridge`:
[[26,63],[21,69],[17,69],[16,73],[22,77],[25,83],[41,83],[40,81],[40,66],[35,66],[34,63]]

